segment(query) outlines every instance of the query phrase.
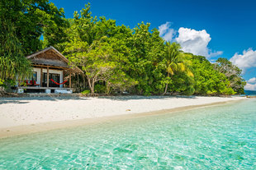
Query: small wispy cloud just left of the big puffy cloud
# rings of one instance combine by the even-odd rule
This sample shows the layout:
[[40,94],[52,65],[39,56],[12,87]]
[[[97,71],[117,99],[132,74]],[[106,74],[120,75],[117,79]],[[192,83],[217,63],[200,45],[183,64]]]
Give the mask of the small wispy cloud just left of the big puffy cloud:
[[176,30],[171,28],[170,22],[166,22],[165,24],[159,26],[159,35],[163,37],[164,40],[172,41],[175,34]]

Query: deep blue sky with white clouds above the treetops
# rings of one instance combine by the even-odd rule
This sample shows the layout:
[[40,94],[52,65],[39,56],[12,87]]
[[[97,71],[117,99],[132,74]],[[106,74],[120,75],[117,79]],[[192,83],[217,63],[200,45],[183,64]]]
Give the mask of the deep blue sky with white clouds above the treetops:
[[[151,28],[162,25],[162,36],[182,44],[183,50],[205,54],[209,60],[231,59],[244,70],[244,79],[256,77],[256,1],[254,0],[50,0],[73,17],[85,3],[91,3],[92,16],[106,16],[117,25],[134,28],[141,21]],[[204,31],[202,31],[204,30]],[[245,50],[245,51],[244,51]],[[236,54],[235,54],[236,53]],[[256,90],[256,79],[249,81]],[[249,89],[247,88],[247,89]]]

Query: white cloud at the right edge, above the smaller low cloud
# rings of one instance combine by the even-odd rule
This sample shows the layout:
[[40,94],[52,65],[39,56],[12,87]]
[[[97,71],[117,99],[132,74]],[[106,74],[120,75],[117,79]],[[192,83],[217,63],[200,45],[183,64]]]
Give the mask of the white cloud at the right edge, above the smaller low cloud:
[[243,54],[235,53],[230,58],[230,62],[233,62],[235,66],[241,68],[244,72],[248,68],[256,67],[256,50],[254,51],[252,48],[249,48],[244,50]]

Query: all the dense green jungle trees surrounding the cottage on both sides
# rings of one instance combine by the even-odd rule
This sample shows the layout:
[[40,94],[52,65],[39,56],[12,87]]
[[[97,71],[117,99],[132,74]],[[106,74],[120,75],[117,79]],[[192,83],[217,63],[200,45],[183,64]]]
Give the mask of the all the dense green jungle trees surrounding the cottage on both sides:
[[[40,39],[43,36],[43,40]],[[92,16],[88,3],[73,18],[48,0],[0,2],[0,85],[31,74],[25,56],[53,46],[83,74],[73,76],[78,91],[91,94],[243,94],[241,70],[221,57],[184,53],[165,42],[149,23],[131,29]],[[12,83],[11,83],[12,84]]]

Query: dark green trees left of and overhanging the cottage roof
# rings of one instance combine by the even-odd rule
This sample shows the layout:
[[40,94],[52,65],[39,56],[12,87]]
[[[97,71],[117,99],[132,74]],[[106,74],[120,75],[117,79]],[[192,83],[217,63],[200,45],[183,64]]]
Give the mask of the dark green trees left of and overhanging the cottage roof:
[[[58,44],[64,37],[63,9],[48,0],[0,1],[0,80],[10,87],[13,80],[31,75],[31,62],[26,59],[42,47]],[[4,82],[4,83],[3,83]]]

